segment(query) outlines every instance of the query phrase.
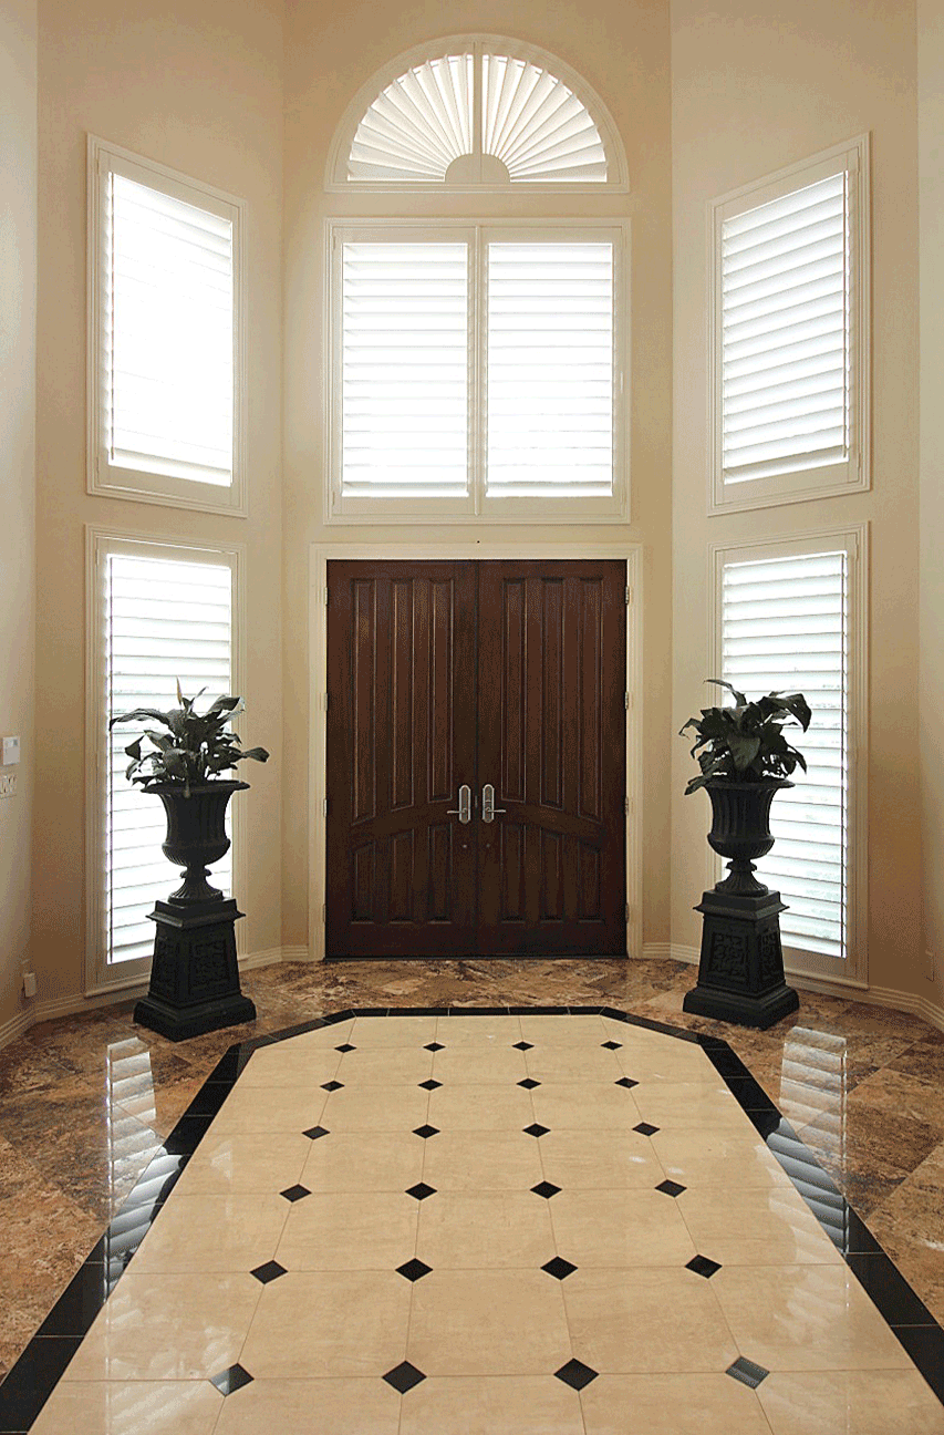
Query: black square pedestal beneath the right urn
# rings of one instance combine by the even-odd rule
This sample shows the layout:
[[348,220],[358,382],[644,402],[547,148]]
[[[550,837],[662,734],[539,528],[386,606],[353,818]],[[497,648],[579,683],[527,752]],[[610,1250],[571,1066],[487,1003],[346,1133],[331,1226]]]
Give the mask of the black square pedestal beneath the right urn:
[[760,1030],[799,1009],[783,979],[779,893],[704,893],[699,980],[681,1003],[684,1012]]

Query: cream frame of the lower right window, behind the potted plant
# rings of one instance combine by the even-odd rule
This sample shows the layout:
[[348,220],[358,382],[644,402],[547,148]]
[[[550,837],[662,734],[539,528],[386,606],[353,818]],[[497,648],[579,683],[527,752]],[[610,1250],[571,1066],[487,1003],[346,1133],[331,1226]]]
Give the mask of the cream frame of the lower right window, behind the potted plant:
[[[795,976],[864,989],[868,986],[868,524],[815,528],[778,542],[710,544],[709,596],[713,617],[709,624],[707,676],[720,677],[722,670],[722,583],[726,564],[838,551],[848,555],[849,583],[848,950],[842,960],[785,946],[783,966]],[[713,887],[724,875],[724,867],[707,844],[706,852],[706,887]]]

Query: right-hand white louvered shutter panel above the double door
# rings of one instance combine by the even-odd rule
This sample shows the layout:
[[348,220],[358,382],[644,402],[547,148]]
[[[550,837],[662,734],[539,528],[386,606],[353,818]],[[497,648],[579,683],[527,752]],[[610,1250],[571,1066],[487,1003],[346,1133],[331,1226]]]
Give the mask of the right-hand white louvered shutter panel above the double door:
[[488,245],[489,497],[613,494],[613,245]]

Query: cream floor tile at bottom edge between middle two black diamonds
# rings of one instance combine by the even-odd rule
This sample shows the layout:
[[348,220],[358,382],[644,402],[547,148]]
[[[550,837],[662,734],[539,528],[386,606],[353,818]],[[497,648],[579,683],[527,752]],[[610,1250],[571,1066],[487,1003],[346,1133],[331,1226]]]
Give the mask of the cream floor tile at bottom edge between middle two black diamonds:
[[400,1435],[584,1435],[580,1396],[552,1375],[423,1380]]

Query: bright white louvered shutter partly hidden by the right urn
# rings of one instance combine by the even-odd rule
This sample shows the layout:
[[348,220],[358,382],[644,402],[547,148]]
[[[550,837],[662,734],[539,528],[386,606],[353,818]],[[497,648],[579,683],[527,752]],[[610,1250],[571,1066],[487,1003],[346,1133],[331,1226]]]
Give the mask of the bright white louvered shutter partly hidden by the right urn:
[[802,692],[788,728],[809,772],[773,799],[776,842],[757,875],[779,890],[783,944],[845,957],[848,904],[848,571],[845,552],[724,564],[723,677],[749,699]]

